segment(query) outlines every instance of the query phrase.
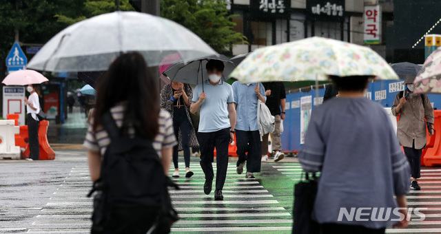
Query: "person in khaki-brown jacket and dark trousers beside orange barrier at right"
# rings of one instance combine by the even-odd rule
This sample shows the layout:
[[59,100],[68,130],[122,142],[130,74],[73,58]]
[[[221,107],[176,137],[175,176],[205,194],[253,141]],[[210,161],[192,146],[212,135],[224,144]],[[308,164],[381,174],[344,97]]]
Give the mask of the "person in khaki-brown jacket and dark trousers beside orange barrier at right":
[[406,89],[397,94],[392,105],[392,114],[400,116],[397,134],[411,164],[410,188],[421,190],[418,184],[418,178],[421,177],[421,153],[427,142],[426,126],[430,136],[435,134],[434,114],[426,94],[413,94],[413,81],[415,76],[407,76],[404,81]]

